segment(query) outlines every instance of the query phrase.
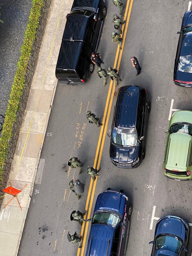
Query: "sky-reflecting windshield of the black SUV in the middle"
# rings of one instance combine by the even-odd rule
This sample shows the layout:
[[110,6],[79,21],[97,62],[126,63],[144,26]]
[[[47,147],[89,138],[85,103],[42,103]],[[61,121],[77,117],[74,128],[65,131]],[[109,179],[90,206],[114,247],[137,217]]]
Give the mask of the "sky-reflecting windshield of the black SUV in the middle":
[[113,129],[112,141],[119,146],[136,146],[138,143],[135,129]]

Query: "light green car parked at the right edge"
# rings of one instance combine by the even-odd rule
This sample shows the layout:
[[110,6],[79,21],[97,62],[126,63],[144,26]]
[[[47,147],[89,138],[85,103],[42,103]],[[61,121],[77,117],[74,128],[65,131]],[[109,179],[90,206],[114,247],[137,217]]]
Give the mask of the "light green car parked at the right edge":
[[174,180],[192,179],[192,111],[176,111],[170,120],[163,173]]

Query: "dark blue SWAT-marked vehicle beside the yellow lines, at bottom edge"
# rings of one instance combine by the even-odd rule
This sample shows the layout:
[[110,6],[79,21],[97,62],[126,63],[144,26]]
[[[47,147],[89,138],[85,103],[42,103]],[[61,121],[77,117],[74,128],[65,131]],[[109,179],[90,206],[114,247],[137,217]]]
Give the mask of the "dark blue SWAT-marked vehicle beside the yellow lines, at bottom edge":
[[99,194],[92,217],[86,256],[124,256],[132,205],[123,190]]

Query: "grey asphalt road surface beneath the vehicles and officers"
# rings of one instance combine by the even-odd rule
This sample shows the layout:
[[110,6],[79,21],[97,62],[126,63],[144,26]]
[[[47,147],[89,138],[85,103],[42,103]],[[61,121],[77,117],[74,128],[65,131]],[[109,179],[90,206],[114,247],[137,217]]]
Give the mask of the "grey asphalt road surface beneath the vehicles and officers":
[[[135,84],[145,87],[149,92],[151,112],[148,120],[146,157],[137,169],[116,168],[109,158],[110,139],[107,136],[102,137],[101,143],[104,144],[103,149],[99,151],[102,153],[100,178],[92,197],[92,208],[97,195],[108,187],[124,189],[130,197],[133,213],[126,255],[150,255],[152,246],[148,243],[153,240],[156,225],[152,212],[155,218],[170,214],[192,222],[191,181],[169,180],[162,174],[166,140],[164,131],[169,125],[171,101],[174,100],[175,109],[192,110],[192,90],[176,86],[172,82],[179,38],[177,31],[180,30],[181,20],[187,9],[188,1],[133,0],[132,4],[119,67],[122,77],[119,86]],[[116,45],[110,42],[110,34],[113,31],[111,20],[115,13],[115,7],[108,2],[108,16],[99,44],[105,67],[113,65],[115,60]],[[136,70],[131,65],[132,56],[136,56],[140,62],[142,72],[139,76],[135,76]],[[94,73],[83,86],[58,84],[41,155],[41,161],[44,161],[42,180],[41,184],[36,184],[34,188],[19,256],[31,255],[31,252],[33,255],[46,256],[77,254],[77,245],[67,241],[67,233],[77,231],[80,234],[81,227],[69,218],[73,210],[85,209],[90,184],[86,168],[94,164],[102,129],[88,123],[86,110],[89,104],[89,109],[102,120],[109,84],[108,80],[108,85],[104,87]],[[111,130],[115,98],[116,95],[112,101],[110,116],[107,114],[107,132]],[[82,130],[84,123],[86,125],[83,140],[79,140],[75,137],[76,127],[80,124]],[[78,141],[82,142],[79,148]],[[67,163],[72,156],[81,158],[84,163],[83,173],[74,174],[71,170],[68,177]],[[85,192],[79,201],[73,193],[69,194],[68,183],[73,175],[85,183]],[[90,226],[88,233],[89,230]],[[191,250],[192,237],[189,238],[188,255],[191,255]],[[86,244],[84,255],[85,251]],[[77,255],[83,256],[83,252]]]

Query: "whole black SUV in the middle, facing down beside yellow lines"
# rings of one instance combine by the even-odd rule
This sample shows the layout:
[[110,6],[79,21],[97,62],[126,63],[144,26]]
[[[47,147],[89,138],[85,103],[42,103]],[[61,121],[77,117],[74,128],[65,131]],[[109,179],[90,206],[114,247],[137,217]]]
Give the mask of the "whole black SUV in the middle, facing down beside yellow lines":
[[140,86],[123,86],[117,93],[109,155],[113,164],[122,168],[138,167],[145,158],[148,92]]

